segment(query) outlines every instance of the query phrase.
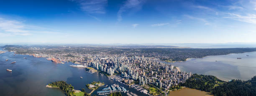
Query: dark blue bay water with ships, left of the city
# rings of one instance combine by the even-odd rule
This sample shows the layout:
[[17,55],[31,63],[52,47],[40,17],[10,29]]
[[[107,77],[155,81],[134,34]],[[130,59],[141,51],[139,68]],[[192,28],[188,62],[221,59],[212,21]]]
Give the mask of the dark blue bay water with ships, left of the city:
[[[27,59],[23,59],[26,57]],[[8,61],[5,61],[8,59]],[[15,64],[11,62],[16,61]],[[0,54],[0,94],[1,96],[65,96],[60,89],[46,88],[46,85],[53,81],[66,81],[72,84],[74,89],[84,88],[87,93],[90,89],[85,86],[92,81],[101,81],[105,85],[119,84],[129,91],[145,96],[145,94],[129,88],[117,81],[110,80],[106,76],[94,73],[90,74],[83,68],[69,66],[72,63],[54,64],[44,58],[35,58],[28,55],[20,55],[6,52]],[[11,69],[13,72],[8,72]],[[84,77],[80,79],[80,76]],[[100,87],[92,93],[97,94],[104,87]],[[123,94],[126,95],[126,94]]]

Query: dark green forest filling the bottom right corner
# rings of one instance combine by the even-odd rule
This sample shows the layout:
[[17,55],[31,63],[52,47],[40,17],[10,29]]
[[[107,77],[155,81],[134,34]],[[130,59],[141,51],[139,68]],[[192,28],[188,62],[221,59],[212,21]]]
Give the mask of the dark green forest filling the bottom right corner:
[[251,80],[221,81],[215,76],[193,74],[182,86],[211,92],[215,96],[256,96],[256,76]]

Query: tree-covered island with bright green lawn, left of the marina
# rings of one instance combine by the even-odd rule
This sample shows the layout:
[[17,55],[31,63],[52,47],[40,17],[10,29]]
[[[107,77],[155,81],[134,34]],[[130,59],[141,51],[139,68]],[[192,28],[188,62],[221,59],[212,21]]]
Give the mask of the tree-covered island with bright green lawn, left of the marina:
[[84,96],[85,91],[80,91],[80,90],[74,90],[74,87],[71,84],[67,84],[67,82],[65,81],[56,81],[56,82],[52,82],[50,84],[47,84],[46,87],[48,88],[59,88],[62,91],[64,91],[64,93],[67,96]]

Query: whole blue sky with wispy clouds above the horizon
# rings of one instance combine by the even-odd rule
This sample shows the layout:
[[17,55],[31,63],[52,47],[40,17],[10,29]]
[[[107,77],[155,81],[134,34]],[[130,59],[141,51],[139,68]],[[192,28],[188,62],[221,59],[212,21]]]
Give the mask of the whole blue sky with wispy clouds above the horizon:
[[255,0],[0,0],[0,43],[256,42]]

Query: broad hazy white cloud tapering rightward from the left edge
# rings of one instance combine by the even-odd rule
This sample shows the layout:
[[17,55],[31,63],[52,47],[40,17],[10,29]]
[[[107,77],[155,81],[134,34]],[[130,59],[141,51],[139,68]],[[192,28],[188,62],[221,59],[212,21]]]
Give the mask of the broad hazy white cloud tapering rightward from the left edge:
[[0,36],[8,37],[8,36],[26,36],[32,35],[33,33],[59,33],[52,32],[48,30],[43,30],[41,27],[26,25],[22,21],[17,20],[7,20],[4,18],[0,18]]

